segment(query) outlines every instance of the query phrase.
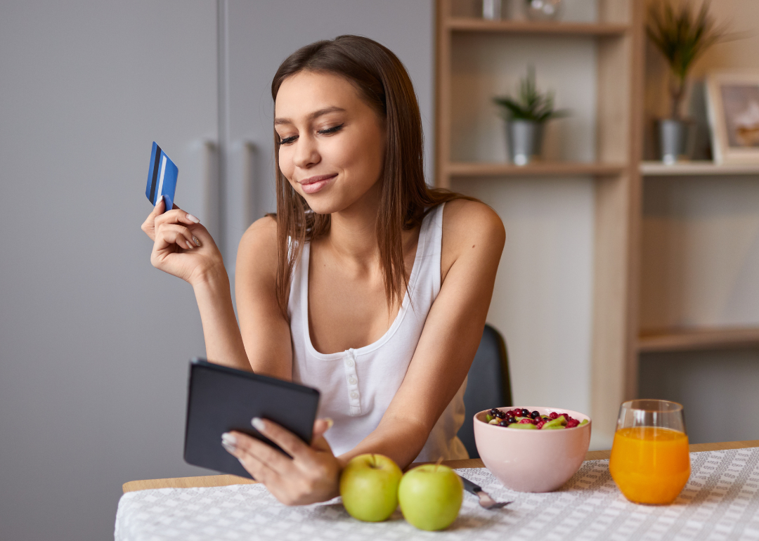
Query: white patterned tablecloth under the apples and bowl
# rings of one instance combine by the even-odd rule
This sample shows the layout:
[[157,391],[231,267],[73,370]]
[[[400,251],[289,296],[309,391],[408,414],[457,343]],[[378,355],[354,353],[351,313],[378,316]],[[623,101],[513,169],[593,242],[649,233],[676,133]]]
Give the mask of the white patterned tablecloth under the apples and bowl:
[[666,506],[629,503],[608,464],[585,462],[562,489],[546,494],[505,489],[485,468],[458,470],[495,499],[515,503],[487,511],[465,493],[458,519],[434,533],[415,529],[399,511],[383,523],[356,521],[339,499],[286,507],[261,485],[141,490],[121,496],[115,539],[759,540],[759,448],[691,453],[691,479]]

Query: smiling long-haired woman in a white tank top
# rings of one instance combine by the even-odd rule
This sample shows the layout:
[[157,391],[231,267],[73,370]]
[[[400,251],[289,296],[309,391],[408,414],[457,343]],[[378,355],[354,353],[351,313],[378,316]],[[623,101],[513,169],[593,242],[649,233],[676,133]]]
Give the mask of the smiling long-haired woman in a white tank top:
[[299,49],[272,98],[277,214],[240,242],[239,327],[222,256],[198,219],[162,213],[159,201],[143,224],[153,266],[194,288],[209,359],[322,393],[310,446],[252,420],[292,458],[240,432],[222,445],[288,505],[338,495],[342,467],[367,452],[400,467],[467,458],[455,435],[501,221],[427,187],[414,89],[379,43],[340,36]]

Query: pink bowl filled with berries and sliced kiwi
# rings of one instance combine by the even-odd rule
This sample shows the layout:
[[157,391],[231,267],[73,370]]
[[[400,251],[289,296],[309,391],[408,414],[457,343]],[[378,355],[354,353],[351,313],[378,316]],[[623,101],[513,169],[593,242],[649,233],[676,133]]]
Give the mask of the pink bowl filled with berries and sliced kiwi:
[[474,416],[474,442],[505,487],[550,492],[580,469],[591,445],[591,419],[555,407],[494,407]]

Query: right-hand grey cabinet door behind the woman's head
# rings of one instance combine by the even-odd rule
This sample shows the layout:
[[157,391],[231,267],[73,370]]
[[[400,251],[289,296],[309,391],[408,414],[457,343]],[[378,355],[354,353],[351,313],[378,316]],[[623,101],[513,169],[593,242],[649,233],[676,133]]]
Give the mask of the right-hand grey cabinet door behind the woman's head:
[[[229,0],[227,76],[222,78],[225,149],[225,261],[234,272],[248,225],[276,211],[272,77],[296,49],[320,39],[358,34],[383,43],[411,74],[424,123],[427,178],[433,163],[433,0]],[[223,40],[222,40],[223,42]],[[222,67],[224,69],[224,67]],[[223,90],[226,86],[226,90]]]

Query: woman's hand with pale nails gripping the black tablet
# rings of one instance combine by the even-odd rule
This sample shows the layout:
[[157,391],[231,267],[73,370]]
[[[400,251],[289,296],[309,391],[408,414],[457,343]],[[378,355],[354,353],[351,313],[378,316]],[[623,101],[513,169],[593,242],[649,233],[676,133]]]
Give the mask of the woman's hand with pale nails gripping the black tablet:
[[307,505],[340,494],[342,465],[324,439],[332,420],[317,419],[313,423],[310,446],[272,421],[255,417],[251,424],[292,458],[242,432],[225,432],[222,445],[276,499],[285,505]]

